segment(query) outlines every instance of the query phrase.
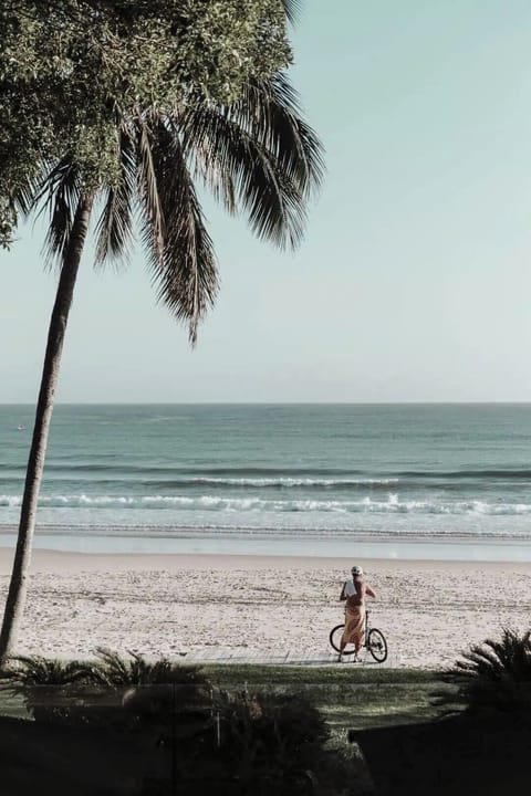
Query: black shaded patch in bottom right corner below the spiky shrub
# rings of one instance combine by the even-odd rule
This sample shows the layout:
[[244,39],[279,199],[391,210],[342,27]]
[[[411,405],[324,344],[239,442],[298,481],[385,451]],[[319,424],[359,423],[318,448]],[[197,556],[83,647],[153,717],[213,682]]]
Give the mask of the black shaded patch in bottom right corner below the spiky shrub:
[[507,716],[351,731],[350,740],[378,796],[499,796],[529,787],[531,729]]

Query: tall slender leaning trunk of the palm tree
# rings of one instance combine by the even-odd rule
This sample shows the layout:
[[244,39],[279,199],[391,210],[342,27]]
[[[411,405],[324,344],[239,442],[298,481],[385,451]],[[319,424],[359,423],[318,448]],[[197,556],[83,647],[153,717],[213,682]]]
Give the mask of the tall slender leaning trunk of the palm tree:
[[70,240],[63,255],[55,303],[53,305],[48,332],[46,353],[42,369],[41,389],[35,411],[35,425],[31,441],[28,469],[25,472],[24,494],[20,511],[19,534],[14,553],[13,568],[9,584],[8,599],[0,633],[0,662],[4,662],[17,643],[20,624],[25,606],[28,575],[31,564],[33,532],[35,528],[37,504],[41,488],[48,433],[52,420],[55,389],[59,380],[61,354],[69,312],[74,295],[74,285],[80,266],[81,254],[88,230],[93,196],[82,196],[70,233]]

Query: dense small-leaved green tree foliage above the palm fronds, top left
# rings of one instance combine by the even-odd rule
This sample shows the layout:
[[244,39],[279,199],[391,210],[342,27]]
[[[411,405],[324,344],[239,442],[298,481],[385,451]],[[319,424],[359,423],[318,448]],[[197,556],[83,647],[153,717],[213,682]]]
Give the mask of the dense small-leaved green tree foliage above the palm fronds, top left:
[[197,94],[232,103],[291,61],[293,0],[3,0],[0,9],[0,243],[11,197],[65,151],[115,177],[116,118]]

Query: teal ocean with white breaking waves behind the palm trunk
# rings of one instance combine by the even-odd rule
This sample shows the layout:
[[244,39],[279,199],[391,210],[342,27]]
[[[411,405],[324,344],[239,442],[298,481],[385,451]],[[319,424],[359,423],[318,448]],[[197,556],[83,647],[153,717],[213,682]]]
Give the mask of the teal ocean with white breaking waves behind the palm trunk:
[[[0,406],[12,546],[34,408]],[[531,561],[531,405],[58,405],[35,546]]]

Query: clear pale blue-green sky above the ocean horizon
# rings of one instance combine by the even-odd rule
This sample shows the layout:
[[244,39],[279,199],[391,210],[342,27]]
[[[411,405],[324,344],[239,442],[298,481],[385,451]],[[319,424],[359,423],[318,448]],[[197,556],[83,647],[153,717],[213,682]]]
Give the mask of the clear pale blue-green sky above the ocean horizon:
[[[82,263],[58,400],[531,401],[529,0],[305,0],[299,88],[327,177],[295,255],[207,206],[197,348],[131,266]],[[0,402],[34,402],[55,275],[0,253]]]

